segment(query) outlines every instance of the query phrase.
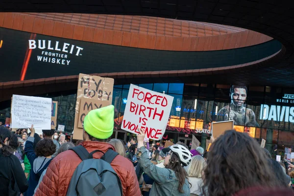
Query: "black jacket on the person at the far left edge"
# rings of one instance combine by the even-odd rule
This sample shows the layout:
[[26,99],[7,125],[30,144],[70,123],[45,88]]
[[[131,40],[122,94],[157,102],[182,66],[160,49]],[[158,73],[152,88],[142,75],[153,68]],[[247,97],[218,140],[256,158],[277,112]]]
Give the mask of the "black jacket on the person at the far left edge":
[[[10,162],[10,166],[9,166]],[[14,172],[13,178],[12,171]],[[0,195],[8,195],[8,186],[11,177],[11,183],[14,185],[16,182],[21,193],[24,193],[28,188],[27,179],[25,177],[25,172],[22,168],[19,159],[11,154],[10,156],[4,156],[2,150],[0,150]],[[13,187],[13,186],[12,186]]]

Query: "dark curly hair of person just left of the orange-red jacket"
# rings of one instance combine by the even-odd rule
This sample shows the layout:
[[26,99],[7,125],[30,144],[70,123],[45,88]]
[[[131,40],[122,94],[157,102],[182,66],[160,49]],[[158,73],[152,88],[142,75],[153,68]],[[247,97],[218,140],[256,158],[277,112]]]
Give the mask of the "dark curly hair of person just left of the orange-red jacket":
[[37,156],[50,156],[56,151],[56,145],[50,139],[43,139],[36,145],[35,152]]

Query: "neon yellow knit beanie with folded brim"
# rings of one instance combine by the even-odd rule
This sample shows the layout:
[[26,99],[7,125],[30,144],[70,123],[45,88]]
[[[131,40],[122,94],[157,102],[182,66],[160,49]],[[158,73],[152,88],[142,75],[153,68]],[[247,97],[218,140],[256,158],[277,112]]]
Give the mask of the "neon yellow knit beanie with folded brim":
[[97,139],[107,139],[113,133],[114,106],[91,110],[84,119],[85,131]]

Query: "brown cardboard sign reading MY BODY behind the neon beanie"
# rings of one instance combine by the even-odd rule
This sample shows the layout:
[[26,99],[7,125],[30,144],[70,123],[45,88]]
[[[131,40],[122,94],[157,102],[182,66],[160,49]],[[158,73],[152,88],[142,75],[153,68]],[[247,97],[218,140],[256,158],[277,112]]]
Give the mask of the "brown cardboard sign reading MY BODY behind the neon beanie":
[[[78,126],[78,122],[80,121],[81,117],[79,113],[81,107],[81,99],[88,98],[101,101],[108,101],[110,105],[112,103],[113,84],[113,78],[87,75],[83,73],[80,73],[78,75],[73,139],[83,139],[83,129]],[[93,107],[93,109],[95,108]]]

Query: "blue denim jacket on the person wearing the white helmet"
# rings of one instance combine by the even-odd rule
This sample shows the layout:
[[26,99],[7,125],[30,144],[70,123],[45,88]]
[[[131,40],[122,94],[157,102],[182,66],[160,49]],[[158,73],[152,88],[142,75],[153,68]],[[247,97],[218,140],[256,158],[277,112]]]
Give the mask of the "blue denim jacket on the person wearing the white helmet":
[[139,152],[141,152],[141,156],[137,155],[137,159],[141,168],[154,180],[150,196],[190,196],[190,186],[187,179],[183,185],[184,193],[180,193],[178,191],[179,181],[175,173],[170,169],[159,168],[152,164],[145,147],[138,148],[137,154]]

